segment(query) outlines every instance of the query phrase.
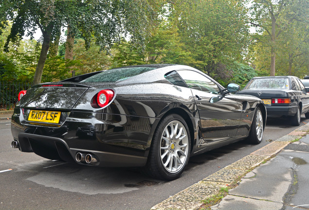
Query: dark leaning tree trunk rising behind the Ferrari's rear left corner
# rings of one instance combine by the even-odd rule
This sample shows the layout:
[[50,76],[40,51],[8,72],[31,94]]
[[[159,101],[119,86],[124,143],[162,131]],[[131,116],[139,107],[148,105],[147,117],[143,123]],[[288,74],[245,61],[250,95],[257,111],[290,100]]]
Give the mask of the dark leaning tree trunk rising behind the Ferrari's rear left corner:
[[42,44],[40,57],[39,57],[39,60],[38,60],[38,63],[35,69],[35,73],[34,73],[34,78],[33,78],[34,85],[41,83],[43,69],[44,69],[46,58],[47,58],[47,53],[50,48],[51,29],[52,29],[52,26],[48,27],[48,29],[45,32],[42,32],[43,44]]

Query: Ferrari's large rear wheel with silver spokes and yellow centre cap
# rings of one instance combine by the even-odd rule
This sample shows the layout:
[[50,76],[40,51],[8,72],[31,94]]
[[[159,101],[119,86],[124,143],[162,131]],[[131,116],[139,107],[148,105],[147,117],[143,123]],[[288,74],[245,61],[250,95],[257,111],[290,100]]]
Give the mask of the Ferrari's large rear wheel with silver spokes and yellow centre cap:
[[154,132],[146,173],[157,179],[178,178],[188,164],[190,148],[187,123],[177,114],[166,116]]

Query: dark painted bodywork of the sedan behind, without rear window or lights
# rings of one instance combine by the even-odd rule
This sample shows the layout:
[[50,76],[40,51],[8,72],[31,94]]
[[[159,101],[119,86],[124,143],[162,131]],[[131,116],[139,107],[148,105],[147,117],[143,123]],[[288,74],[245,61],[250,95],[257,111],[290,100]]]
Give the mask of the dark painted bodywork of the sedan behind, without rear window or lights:
[[[278,116],[294,116],[297,112],[298,106],[301,113],[309,112],[309,93],[306,89],[293,88],[292,81],[299,80],[294,76],[274,76],[274,77],[256,77],[253,79],[263,78],[288,78],[290,89],[243,89],[236,94],[253,95],[260,99],[273,99],[273,98],[290,98],[291,104],[269,104],[265,105],[267,108],[268,117]],[[300,81],[300,80],[299,80]]]

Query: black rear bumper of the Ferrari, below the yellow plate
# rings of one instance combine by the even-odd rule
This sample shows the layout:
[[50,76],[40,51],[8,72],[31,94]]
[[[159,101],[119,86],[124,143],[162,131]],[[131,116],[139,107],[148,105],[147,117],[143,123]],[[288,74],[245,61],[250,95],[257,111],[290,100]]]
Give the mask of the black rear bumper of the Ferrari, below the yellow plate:
[[21,152],[48,159],[76,161],[76,154],[97,157],[97,166],[139,167],[147,161],[152,127],[157,119],[94,112],[70,112],[58,127],[31,124],[20,111],[12,116],[11,131]]

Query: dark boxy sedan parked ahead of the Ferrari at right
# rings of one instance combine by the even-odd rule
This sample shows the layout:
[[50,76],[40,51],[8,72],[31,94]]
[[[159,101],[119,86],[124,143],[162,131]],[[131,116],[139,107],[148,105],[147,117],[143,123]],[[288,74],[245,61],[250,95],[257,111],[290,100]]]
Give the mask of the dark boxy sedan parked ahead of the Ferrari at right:
[[267,117],[290,116],[292,125],[299,125],[301,114],[309,118],[309,93],[295,76],[254,77],[237,94],[262,99]]

